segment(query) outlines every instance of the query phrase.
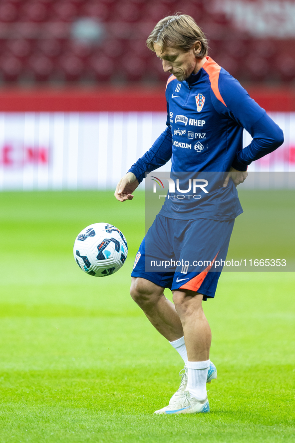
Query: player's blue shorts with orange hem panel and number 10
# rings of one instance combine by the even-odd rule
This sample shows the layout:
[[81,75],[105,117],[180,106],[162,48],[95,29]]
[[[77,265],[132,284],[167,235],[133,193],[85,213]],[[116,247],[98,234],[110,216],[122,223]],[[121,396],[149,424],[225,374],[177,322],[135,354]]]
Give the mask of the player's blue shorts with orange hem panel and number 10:
[[157,215],[136,254],[132,277],[214,298],[235,220],[177,220]]

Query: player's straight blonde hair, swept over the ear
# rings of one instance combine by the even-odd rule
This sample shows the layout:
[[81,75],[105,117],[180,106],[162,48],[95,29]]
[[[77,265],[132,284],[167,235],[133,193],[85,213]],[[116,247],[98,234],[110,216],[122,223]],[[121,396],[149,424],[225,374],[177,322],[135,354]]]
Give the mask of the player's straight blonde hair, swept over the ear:
[[202,45],[197,58],[203,58],[208,53],[208,40],[204,32],[190,15],[175,14],[162,18],[156,24],[146,44],[154,52],[154,43],[161,46],[162,51],[166,47],[179,47],[188,51],[196,41]]

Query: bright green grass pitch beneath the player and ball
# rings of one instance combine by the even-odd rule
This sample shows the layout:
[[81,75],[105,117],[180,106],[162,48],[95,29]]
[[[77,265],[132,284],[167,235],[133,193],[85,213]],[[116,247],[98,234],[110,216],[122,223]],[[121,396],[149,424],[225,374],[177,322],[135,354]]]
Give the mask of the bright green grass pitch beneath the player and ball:
[[[269,211],[273,195],[262,192]],[[241,200],[245,216],[261,210],[253,191]],[[294,273],[222,274],[204,306],[218,368],[211,412],[153,416],[177,389],[182,360],[129,297],[143,193],[122,204],[112,192],[7,192],[0,207],[1,443],[295,442]],[[248,229],[261,248],[242,217],[235,235]],[[98,221],[129,244],[124,267],[100,279],[72,256],[76,235]],[[278,218],[267,221],[274,232]],[[288,252],[294,231],[282,236]]]

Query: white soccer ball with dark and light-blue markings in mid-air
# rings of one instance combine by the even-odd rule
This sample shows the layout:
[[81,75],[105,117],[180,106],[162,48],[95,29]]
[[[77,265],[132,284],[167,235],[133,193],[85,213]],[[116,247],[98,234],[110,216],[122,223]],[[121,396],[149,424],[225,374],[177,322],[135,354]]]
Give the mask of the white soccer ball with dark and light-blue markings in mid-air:
[[124,264],[128,246],[122,232],[108,223],[94,223],[77,236],[74,257],[82,271],[95,277],[114,274]]

